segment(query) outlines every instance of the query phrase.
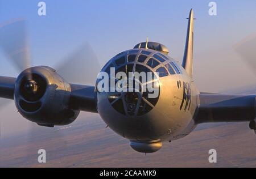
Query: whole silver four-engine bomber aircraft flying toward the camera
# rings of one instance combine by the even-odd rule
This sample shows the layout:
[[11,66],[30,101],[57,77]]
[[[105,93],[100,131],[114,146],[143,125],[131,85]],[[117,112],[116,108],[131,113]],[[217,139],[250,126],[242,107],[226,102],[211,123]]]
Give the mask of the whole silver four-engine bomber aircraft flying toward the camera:
[[[80,111],[98,113],[115,133],[130,140],[135,151],[143,153],[156,152],[163,142],[184,138],[200,123],[248,122],[256,131],[255,93],[197,90],[193,25],[191,10],[182,65],[168,56],[166,46],[147,40],[110,59],[94,86],[69,83],[55,69],[35,66],[17,78],[0,76],[0,97],[14,100],[24,118],[46,127],[68,125]],[[22,39],[8,41],[3,34],[0,44],[10,58],[26,59],[27,49],[15,43]]]

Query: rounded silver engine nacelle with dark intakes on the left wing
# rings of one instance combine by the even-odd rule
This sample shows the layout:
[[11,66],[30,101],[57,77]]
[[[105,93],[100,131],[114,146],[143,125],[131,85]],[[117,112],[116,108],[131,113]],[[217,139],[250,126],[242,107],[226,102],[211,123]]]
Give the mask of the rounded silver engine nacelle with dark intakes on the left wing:
[[16,108],[38,125],[53,127],[75,121],[80,111],[69,108],[70,96],[70,84],[51,67],[31,67],[16,79]]

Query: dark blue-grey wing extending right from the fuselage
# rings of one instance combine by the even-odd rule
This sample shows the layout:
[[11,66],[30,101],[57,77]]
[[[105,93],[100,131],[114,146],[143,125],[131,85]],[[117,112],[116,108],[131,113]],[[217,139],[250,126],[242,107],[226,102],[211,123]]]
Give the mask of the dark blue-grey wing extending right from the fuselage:
[[255,119],[256,95],[201,93],[195,122],[239,122]]

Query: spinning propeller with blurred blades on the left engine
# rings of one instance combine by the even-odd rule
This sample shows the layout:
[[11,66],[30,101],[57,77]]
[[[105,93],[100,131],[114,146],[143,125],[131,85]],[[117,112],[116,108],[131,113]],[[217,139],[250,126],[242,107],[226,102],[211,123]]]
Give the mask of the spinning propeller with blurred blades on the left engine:
[[[2,49],[9,61],[15,66],[18,73],[31,67],[26,20],[16,19],[0,25],[0,49]],[[84,43],[75,52],[64,57],[61,64],[57,65],[56,70],[69,83],[94,86],[97,74],[100,71],[100,63],[90,45]],[[40,96],[40,91],[42,90],[40,89],[38,80],[32,74],[28,75],[26,82],[24,82],[24,93],[28,99],[32,100],[33,97]],[[5,99],[0,99],[0,105],[6,104],[6,101]],[[30,140],[33,136],[32,128],[31,125],[28,132],[28,138]],[[60,132],[55,130],[55,133]]]

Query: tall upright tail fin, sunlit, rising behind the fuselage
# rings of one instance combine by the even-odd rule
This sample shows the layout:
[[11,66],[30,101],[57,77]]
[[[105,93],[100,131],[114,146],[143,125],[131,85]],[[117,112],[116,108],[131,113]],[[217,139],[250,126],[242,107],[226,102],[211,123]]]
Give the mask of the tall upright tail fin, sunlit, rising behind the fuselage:
[[192,77],[193,74],[193,36],[194,36],[194,13],[191,9],[188,18],[188,31],[185,44],[185,52],[183,57],[182,66],[187,71],[188,75]]

